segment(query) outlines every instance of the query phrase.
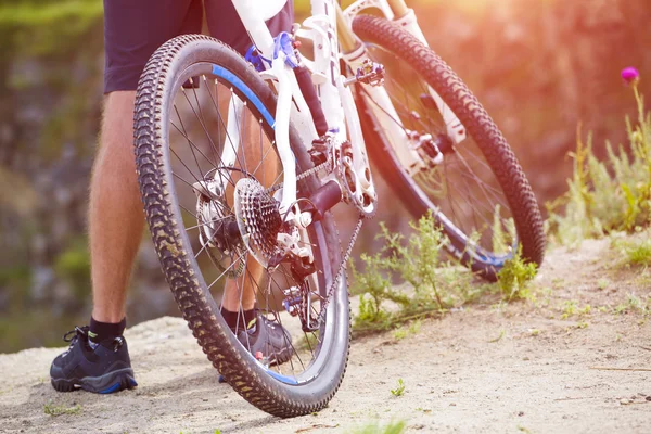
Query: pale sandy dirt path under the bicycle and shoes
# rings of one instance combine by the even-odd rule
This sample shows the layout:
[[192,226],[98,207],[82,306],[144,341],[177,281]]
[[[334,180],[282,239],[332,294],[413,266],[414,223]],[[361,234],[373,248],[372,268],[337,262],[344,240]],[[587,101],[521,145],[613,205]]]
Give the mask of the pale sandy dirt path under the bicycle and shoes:
[[[140,386],[115,395],[55,393],[48,370],[60,349],[0,355],[0,432],[339,433],[404,420],[408,432],[648,433],[651,372],[591,369],[651,369],[651,326],[635,307],[649,279],[602,265],[613,257],[608,241],[557,250],[537,278],[536,303],[475,305],[400,341],[354,342],[329,408],[291,420],[219,384],[177,318],[127,331]],[[590,312],[578,314],[587,304]],[[398,379],[406,388],[396,397]],[[73,410],[54,417],[46,406]]]

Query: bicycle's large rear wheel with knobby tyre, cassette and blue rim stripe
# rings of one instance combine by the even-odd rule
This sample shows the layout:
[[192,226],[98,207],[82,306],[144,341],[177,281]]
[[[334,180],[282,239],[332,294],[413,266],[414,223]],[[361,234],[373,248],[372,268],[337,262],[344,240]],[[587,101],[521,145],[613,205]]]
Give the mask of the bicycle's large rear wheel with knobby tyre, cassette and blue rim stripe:
[[[238,53],[181,36],[154,53],[140,79],[136,155],[154,245],[199,344],[245,399],[293,417],[336,392],[349,307],[344,276],[326,302],[341,260],[332,217],[298,230],[278,210],[275,113],[270,87]],[[290,138],[301,174],[311,163],[293,128]],[[319,187],[308,176],[298,196]],[[284,257],[280,237],[297,239],[312,260],[272,263]]]

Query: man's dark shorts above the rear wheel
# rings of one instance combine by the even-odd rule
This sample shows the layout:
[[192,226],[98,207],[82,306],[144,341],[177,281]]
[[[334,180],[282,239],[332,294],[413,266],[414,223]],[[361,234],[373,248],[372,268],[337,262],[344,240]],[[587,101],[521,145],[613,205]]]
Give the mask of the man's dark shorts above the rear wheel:
[[[252,42],[230,0],[104,0],[104,93],[136,90],[150,56],[175,36],[200,34],[205,3],[210,35],[244,54]],[[290,31],[292,0],[267,22]]]

